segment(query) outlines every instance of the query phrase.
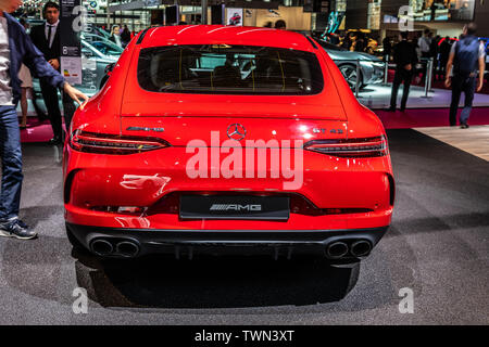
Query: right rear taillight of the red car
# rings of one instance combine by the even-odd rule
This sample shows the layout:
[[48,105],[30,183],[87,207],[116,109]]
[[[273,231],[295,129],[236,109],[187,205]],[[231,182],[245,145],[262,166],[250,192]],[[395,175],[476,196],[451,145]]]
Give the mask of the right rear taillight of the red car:
[[388,153],[385,136],[348,140],[313,140],[304,144],[304,150],[339,157],[376,157]]

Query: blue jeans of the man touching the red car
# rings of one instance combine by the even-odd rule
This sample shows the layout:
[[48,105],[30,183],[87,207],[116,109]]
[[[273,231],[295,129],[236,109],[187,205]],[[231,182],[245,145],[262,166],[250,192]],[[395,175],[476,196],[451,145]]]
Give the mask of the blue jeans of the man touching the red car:
[[0,106],[0,156],[2,184],[0,220],[16,218],[21,205],[22,150],[17,112],[14,106]]

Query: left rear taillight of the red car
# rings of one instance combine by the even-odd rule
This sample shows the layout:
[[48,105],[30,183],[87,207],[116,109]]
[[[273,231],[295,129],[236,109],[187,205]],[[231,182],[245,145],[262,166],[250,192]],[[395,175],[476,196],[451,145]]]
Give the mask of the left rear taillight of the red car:
[[143,137],[96,133],[75,130],[70,139],[73,150],[101,154],[135,154],[170,146],[164,140]]

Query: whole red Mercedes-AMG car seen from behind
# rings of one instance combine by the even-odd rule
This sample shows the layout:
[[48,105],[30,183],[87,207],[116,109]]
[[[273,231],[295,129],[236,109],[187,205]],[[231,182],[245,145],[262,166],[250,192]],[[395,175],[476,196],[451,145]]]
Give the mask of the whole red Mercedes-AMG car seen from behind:
[[108,257],[358,261],[394,200],[379,119],[313,39],[269,28],[139,34],[76,112],[63,169],[70,241]]

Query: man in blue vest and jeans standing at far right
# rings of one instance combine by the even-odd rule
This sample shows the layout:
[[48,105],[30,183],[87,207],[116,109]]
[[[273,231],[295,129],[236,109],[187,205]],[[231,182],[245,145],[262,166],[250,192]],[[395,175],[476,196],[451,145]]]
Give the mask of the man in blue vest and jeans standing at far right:
[[[465,104],[460,115],[462,129],[468,128],[468,117],[471,116],[472,103],[475,91],[480,91],[484,85],[484,73],[486,69],[486,52],[484,43],[476,37],[477,26],[469,23],[464,26],[463,37],[452,44],[449,61],[447,63],[447,77],[444,85],[452,87],[452,102],[450,104],[450,126],[456,126],[456,112],[459,108],[460,95],[465,94]],[[477,70],[479,72],[479,82],[477,82]]]

